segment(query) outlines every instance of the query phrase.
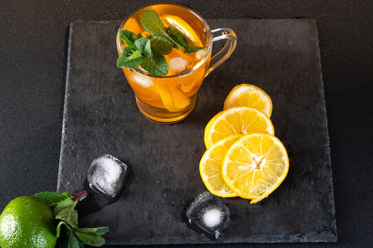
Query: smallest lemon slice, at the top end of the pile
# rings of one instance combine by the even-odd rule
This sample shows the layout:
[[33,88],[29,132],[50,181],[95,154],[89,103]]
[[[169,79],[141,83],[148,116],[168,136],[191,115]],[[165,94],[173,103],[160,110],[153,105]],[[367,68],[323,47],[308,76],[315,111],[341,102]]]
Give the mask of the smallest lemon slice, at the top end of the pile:
[[246,83],[234,87],[225,99],[224,110],[238,106],[254,107],[254,109],[267,114],[268,117],[272,114],[270,96],[261,88]]

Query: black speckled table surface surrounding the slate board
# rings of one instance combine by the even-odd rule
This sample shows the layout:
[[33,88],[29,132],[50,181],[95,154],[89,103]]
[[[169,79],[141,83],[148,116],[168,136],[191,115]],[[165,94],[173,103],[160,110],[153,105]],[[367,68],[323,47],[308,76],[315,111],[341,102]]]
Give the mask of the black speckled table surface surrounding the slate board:
[[[0,1],[0,211],[56,189],[71,21],[124,19],[152,2]],[[306,17],[319,28],[339,240],[216,247],[373,247],[373,1],[176,2],[205,19]]]

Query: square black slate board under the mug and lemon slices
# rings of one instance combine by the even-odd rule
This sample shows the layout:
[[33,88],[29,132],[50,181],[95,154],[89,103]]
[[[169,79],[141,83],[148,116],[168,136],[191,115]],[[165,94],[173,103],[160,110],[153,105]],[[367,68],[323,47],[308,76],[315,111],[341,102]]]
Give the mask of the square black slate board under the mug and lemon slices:
[[[110,227],[109,244],[336,241],[315,21],[208,20],[211,28],[236,31],[236,52],[205,79],[192,114],[174,125],[152,123],[137,110],[115,64],[120,23],[77,21],[70,26],[57,190],[81,191],[90,163],[102,154],[132,167],[119,201],[83,216],[81,225]],[[205,190],[198,169],[204,127],[240,83],[257,85],[271,96],[275,134],[288,150],[290,170],[260,203],[221,199],[232,223],[213,241],[188,229],[183,213]]]

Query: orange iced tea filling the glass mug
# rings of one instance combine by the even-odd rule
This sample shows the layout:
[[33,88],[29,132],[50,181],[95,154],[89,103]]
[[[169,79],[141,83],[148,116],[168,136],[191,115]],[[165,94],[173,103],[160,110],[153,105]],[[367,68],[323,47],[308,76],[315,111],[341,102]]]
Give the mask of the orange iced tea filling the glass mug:
[[[199,41],[193,42],[187,39],[188,42],[193,45],[208,46],[208,33],[203,21],[188,8],[172,4],[158,4],[139,10],[125,22],[122,30],[130,30],[134,34],[141,32],[146,37],[148,33],[143,30],[140,21],[141,14],[146,10],[155,10],[161,19],[162,16],[181,18],[199,37]],[[167,21],[163,21],[163,24],[165,28],[170,25]],[[123,41],[122,45],[125,45]],[[193,110],[196,92],[208,70],[211,53],[205,58],[207,51],[205,49],[184,54],[181,48],[173,48],[170,54],[164,55],[170,68],[165,76],[152,76],[146,72],[122,68],[128,83],[134,90],[141,112],[152,121],[159,123],[174,123],[188,116]]]

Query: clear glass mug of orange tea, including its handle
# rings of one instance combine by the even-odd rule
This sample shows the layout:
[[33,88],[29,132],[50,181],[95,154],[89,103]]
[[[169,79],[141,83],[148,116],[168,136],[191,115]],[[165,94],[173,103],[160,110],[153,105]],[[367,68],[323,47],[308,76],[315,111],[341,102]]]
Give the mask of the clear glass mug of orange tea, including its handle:
[[[192,112],[196,103],[196,94],[205,76],[228,59],[236,48],[236,34],[229,28],[211,30],[208,23],[188,7],[175,3],[159,3],[137,10],[121,23],[117,33],[119,55],[125,45],[119,37],[121,30],[127,29],[135,34],[144,32],[139,23],[141,23],[141,14],[146,10],[155,10],[159,16],[172,14],[180,17],[191,26],[207,48],[203,58],[192,68],[171,76],[153,76],[139,68],[122,68],[125,78],[134,91],[140,112],[157,123],[177,123]],[[222,39],[227,39],[227,42],[211,58],[212,43]]]

